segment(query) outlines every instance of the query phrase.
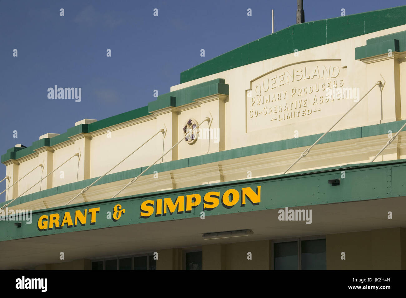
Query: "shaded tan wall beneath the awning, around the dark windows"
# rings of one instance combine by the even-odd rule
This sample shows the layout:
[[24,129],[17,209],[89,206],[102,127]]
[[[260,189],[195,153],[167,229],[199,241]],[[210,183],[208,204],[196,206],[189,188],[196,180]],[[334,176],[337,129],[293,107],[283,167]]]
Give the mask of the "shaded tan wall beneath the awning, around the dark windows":
[[[406,270],[406,229],[395,227],[326,235],[327,270]],[[186,252],[203,251],[203,270],[272,270],[272,240],[157,250],[157,270],[184,270]],[[248,259],[251,253],[251,259]],[[345,259],[342,258],[345,253]],[[44,264],[36,270],[90,270],[91,261]]]

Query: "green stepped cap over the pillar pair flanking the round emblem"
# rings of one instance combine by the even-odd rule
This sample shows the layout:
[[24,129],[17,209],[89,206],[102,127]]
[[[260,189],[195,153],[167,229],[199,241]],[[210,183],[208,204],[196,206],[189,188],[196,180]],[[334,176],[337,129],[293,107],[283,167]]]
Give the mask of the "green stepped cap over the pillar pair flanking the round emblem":
[[159,95],[157,100],[148,104],[148,111],[151,113],[163,108],[183,106],[192,103],[194,99],[214,94],[229,95],[229,85],[225,84],[224,79],[219,78]]

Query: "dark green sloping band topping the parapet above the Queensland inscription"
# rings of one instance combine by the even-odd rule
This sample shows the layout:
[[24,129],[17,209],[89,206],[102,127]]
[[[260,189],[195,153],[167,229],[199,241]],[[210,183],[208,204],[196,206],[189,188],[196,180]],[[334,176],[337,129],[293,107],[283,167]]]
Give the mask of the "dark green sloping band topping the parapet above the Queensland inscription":
[[289,26],[240,48],[192,67],[180,74],[180,83],[406,24],[406,6],[324,19]]

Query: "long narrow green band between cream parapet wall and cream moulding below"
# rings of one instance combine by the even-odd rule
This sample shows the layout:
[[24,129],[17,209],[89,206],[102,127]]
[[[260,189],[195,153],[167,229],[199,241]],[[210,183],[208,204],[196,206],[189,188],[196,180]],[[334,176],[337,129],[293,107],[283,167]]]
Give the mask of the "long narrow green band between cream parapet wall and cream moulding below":
[[[369,125],[364,127],[356,127],[350,128],[347,130],[339,130],[329,132],[320,140],[319,144],[324,143],[333,143],[342,140],[352,140],[356,138],[363,138],[369,136],[378,136],[382,134],[387,134],[388,130],[393,132],[397,132],[402,125],[406,123],[406,120],[402,121],[394,121],[389,123],[382,123],[376,125]],[[406,127],[403,129],[406,131]],[[262,153],[268,152],[275,152],[281,151],[286,149],[298,148],[298,147],[305,147],[312,145],[318,138],[320,138],[322,134],[313,134],[311,136],[303,136],[300,138],[292,138],[288,140],[280,140],[271,143],[264,143],[259,145],[252,145],[248,147],[236,148],[227,151],[219,151],[215,153],[209,153],[200,156],[194,156],[191,158],[184,158],[181,160],[174,160],[171,162],[164,162],[162,164],[155,164],[152,166],[145,175],[153,174],[154,171],[158,171],[158,173],[166,172],[166,171],[173,171],[180,168],[188,168],[190,166],[199,166],[202,164],[209,164],[212,162],[220,162],[223,160],[230,160],[234,158],[241,158],[246,156],[252,156]],[[382,144],[383,147],[384,144]],[[376,163],[374,163],[376,164]],[[120,181],[124,179],[131,179],[138,176],[142,171],[144,171],[147,166],[141,168],[135,168],[133,170],[123,171],[119,173],[114,173],[110,175],[106,175],[100,181],[98,181],[95,185],[106,184],[114,181]],[[282,177],[285,177],[283,175]],[[49,197],[55,194],[61,194],[64,192],[69,192],[72,190],[82,190],[89,184],[92,184],[98,177],[82,180],[78,182],[73,182],[70,184],[65,184],[62,186],[50,188],[48,190],[42,190],[40,192],[35,192],[33,194],[28,194],[26,196],[20,197],[16,199],[13,203],[10,204],[11,206],[19,205],[22,203],[26,203],[29,201],[34,201],[37,199],[41,199],[44,197]]]

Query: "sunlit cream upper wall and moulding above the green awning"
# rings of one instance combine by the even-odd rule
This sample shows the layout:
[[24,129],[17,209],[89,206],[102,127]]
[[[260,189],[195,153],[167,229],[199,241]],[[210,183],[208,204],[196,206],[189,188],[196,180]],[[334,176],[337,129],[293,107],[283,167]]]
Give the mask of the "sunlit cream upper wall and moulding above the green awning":
[[[164,108],[140,119],[119,123],[89,134],[71,136],[70,141],[52,148],[37,149],[37,154],[33,153],[14,163],[6,162],[6,175],[11,173],[12,184],[34,166],[43,163],[42,175],[45,177],[78,152],[79,160],[77,157],[72,158],[27,194],[37,192],[40,188],[49,189],[99,177],[164,128],[164,139],[162,134],[158,134],[110,173],[149,166],[160,157],[162,149],[164,152],[168,151],[184,136],[183,127],[188,119],[195,119],[200,123],[210,117],[212,132],[215,130],[220,134],[218,140],[214,140],[212,134],[210,140],[199,139],[194,145],[181,142],[158,163],[323,133],[355,104],[353,99],[336,97],[334,101],[326,100],[326,86],[337,84],[337,87],[342,85],[345,88],[355,88],[359,89],[358,95],[363,95],[376,81],[382,79],[380,74],[386,80],[382,89],[382,111],[381,92],[378,86],[375,86],[333,131],[406,119],[406,97],[404,85],[401,84],[406,76],[404,54],[396,54],[390,58],[379,56],[362,61],[355,60],[355,48],[365,45],[367,39],[402,30],[406,30],[406,25],[308,50],[299,49],[298,55],[287,54],[173,86],[171,91],[224,78],[225,84],[229,84],[229,96],[213,95],[195,99],[184,106]],[[316,92],[316,88],[319,91]],[[292,117],[291,114],[292,118],[286,119],[292,111],[298,112],[298,117]],[[207,122],[203,123],[201,129],[207,128]],[[111,138],[108,138],[108,131]],[[402,133],[397,142],[391,144],[376,161],[405,158],[403,140]],[[386,136],[376,136],[317,145],[312,154],[292,168],[292,172],[369,162],[386,141]],[[227,161],[207,164],[192,169],[192,174],[184,170],[160,173],[160,180],[154,179],[151,182],[151,179],[140,179],[136,188],[128,188],[122,195],[245,179],[248,177],[248,171],[252,172],[250,177],[277,175],[283,173],[303,150],[304,148],[294,148],[283,152],[253,155],[240,158],[231,164]],[[63,179],[60,178],[60,171],[64,172]],[[6,193],[6,198],[11,200],[22,194],[39,179],[41,168],[11,188]],[[127,182],[117,182],[114,187],[122,187]],[[112,190],[112,194],[114,192]],[[99,193],[103,194],[101,190]],[[110,193],[94,199],[108,196]]]

